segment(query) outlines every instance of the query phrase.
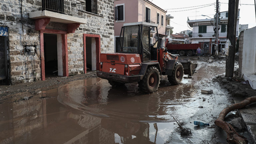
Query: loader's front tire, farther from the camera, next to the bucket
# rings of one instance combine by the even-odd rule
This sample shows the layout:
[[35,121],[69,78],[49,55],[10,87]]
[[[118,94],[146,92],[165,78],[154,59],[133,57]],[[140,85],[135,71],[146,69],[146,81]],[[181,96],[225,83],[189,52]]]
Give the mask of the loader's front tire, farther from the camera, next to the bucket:
[[172,75],[168,75],[168,80],[171,84],[180,84],[183,78],[184,69],[180,62],[175,62]]

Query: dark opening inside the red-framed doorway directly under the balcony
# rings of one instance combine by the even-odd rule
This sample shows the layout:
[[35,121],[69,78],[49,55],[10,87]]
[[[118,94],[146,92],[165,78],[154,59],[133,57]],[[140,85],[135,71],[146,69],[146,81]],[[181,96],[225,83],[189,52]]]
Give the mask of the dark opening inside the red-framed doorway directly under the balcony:
[[44,34],[45,77],[58,75],[57,35]]

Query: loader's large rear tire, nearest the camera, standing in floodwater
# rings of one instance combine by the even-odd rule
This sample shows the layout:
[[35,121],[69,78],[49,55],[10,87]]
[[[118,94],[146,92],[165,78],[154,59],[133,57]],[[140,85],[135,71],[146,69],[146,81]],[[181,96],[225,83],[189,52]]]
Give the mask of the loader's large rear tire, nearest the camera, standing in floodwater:
[[155,92],[160,83],[160,73],[156,67],[149,67],[143,79],[138,82],[139,87],[145,93]]

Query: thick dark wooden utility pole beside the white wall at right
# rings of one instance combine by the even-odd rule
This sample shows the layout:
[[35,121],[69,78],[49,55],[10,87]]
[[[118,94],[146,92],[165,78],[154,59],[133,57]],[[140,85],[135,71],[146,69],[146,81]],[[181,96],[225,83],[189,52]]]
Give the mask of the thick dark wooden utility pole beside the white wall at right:
[[233,77],[234,75],[238,4],[239,0],[229,0],[228,2],[227,41],[229,40],[230,44],[226,58],[226,77]]

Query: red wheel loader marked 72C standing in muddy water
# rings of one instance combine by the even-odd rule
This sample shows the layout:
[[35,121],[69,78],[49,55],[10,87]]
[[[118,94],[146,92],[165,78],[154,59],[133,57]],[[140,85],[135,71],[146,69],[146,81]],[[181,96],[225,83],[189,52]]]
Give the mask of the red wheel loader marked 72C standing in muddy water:
[[[156,42],[150,44],[150,30],[156,28]],[[182,81],[183,73],[192,75],[191,62],[179,61],[178,56],[159,48],[157,25],[147,22],[126,23],[122,27],[121,51],[100,54],[97,76],[108,79],[111,85],[138,82],[145,93],[156,91],[160,75],[167,75],[172,84]],[[120,39],[121,40],[121,39]]]

